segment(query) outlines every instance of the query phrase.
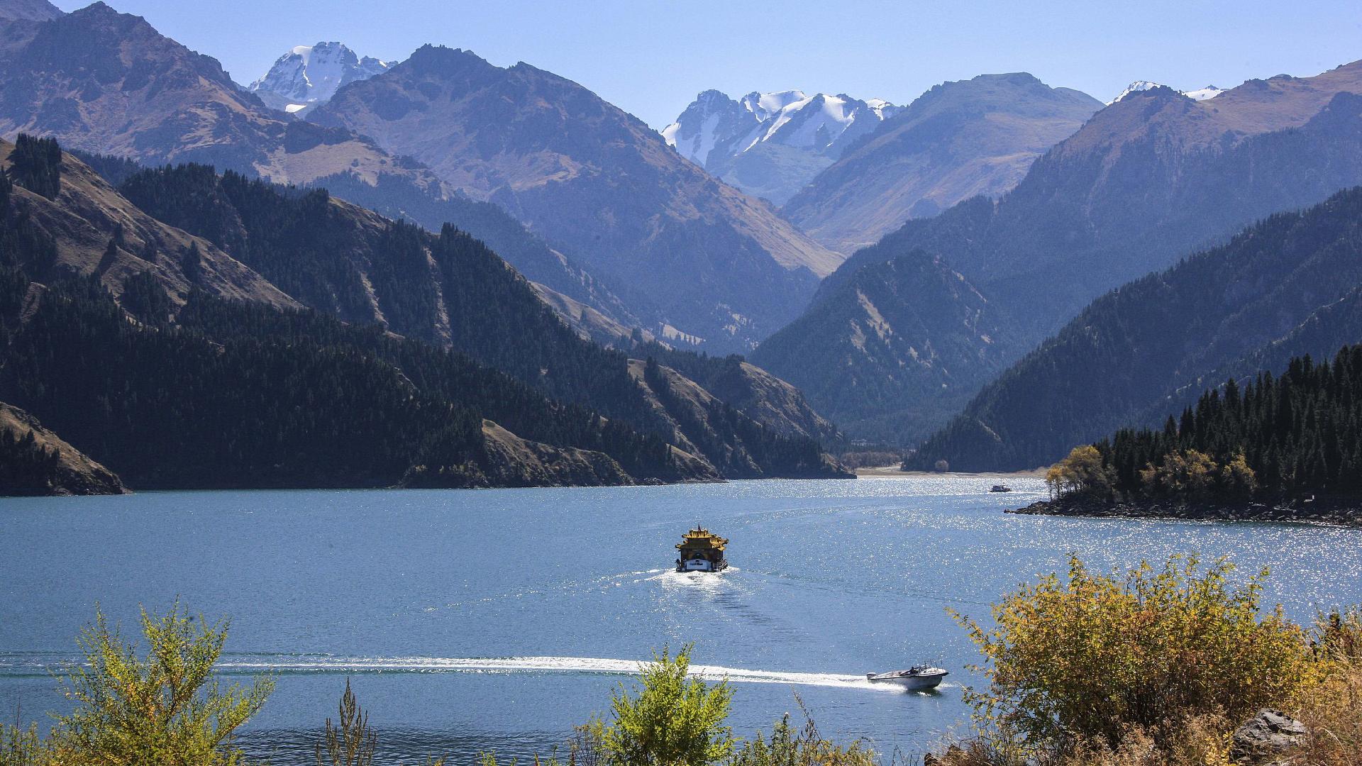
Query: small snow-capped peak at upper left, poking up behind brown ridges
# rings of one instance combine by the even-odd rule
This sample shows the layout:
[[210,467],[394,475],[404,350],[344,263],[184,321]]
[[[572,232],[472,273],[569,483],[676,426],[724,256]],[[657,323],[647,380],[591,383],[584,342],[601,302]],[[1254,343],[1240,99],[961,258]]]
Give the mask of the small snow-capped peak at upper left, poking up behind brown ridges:
[[372,56],[361,59],[339,42],[298,45],[279,56],[270,71],[247,90],[271,109],[298,114],[330,101],[340,86],[372,78],[390,65]]

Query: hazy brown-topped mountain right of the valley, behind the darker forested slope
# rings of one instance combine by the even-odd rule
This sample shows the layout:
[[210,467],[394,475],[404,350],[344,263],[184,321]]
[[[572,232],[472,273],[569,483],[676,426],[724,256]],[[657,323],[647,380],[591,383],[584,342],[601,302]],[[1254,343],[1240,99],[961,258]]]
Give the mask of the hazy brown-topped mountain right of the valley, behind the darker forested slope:
[[[1362,183],[1359,75],[1362,63],[1314,78],[1250,80],[1203,101],[1162,86],[1133,89],[1036,159],[1000,199],[972,198],[933,218],[908,221],[854,254],[824,279],[791,331],[772,335],[753,358],[806,387],[813,405],[853,438],[896,438],[913,446],[1086,301],[1166,269],[1257,218]],[[914,380],[944,372],[926,368],[922,350],[957,342],[962,326],[928,333],[891,319],[914,316],[918,301],[941,298],[936,278],[904,284],[898,262],[919,252],[940,259],[970,286],[941,316],[972,316],[986,307],[979,316],[992,316],[1007,330],[989,334],[1004,342],[975,345],[987,353],[956,356],[947,367],[948,386],[930,391]],[[864,294],[870,294],[865,285],[898,285],[898,290],[864,300],[847,285]],[[903,350],[889,354],[893,343],[865,343],[861,338],[872,324],[880,335],[902,333],[893,339]],[[791,338],[821,341],[813,349]],[[827,364],[805,364],[816,350],[836,352],[836,372]],[[857,401],[850,387],[836,386],[840,379],[880,391],[869,397],[878,403]],[[884,401],[887,393],[898,395]]]

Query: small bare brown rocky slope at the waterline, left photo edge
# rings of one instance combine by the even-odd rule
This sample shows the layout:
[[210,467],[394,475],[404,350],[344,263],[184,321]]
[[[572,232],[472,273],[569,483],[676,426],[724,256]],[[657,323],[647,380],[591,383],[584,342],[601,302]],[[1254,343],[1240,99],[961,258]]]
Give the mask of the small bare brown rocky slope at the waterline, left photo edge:
[[123,495],[123,481],[27,412],[0,402],[0,495]]

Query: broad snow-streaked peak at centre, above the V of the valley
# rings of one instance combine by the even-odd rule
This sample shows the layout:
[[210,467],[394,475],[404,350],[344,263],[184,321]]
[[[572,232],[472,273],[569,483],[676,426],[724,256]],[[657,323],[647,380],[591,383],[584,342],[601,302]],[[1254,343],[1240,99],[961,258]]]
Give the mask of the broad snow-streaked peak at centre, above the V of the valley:
[[749,93],[734,101],[707,90],[662,138],[682,157],[740,189],[785,204],[899,108],[878,98]]

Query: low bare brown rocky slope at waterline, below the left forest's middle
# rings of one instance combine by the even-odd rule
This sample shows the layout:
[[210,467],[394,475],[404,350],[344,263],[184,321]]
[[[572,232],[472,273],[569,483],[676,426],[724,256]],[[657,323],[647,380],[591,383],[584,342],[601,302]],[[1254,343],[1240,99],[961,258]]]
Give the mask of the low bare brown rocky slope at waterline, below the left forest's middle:
[[403,487],[616,487],[633,484],[620,463],[603,453],[552,447],[482,421],[484,459],[477,465],[415,466]]

